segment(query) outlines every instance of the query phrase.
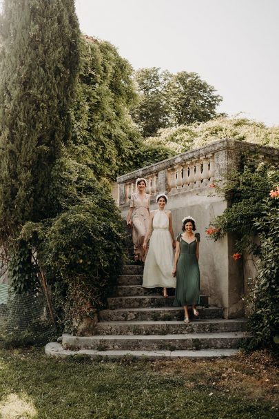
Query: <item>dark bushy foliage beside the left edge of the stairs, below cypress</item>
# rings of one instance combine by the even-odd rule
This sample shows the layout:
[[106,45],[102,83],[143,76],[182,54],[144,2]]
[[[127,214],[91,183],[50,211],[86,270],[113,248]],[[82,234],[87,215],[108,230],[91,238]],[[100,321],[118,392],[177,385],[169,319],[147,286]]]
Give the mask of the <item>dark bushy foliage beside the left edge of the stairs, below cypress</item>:
[[77,331],[76,319],[103,306],[118,277],[121,217],[110,189],[68,155],[57,160],[50,191],[56,217],[26,223],[21,238],[39,255],[61,326]]

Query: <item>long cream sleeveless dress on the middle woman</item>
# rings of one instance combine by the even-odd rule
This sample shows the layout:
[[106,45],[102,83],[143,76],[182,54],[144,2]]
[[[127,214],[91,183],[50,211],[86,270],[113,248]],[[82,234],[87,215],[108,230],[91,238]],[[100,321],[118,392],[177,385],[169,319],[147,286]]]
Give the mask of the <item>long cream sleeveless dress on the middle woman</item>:
[[154,211],[153,231],[149,242],[145,268],[143,271],[143,286],[176,287],[176,278],[172,276],[174,251],[172,237],[169,233],[169,217],[165,211]]

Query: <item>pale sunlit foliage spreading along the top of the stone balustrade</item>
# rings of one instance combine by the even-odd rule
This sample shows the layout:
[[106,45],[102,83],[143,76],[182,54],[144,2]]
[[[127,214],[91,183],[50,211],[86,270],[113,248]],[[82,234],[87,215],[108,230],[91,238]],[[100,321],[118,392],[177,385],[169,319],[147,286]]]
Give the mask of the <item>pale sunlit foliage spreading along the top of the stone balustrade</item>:
[[246,118],[218,117],[207,122],[159,130],[156,137],[145,139],[145,144],[153,146],[163,144],[169,150],[179,154],[223,138],[278,147],[279,127],[267,128],[265,124]]

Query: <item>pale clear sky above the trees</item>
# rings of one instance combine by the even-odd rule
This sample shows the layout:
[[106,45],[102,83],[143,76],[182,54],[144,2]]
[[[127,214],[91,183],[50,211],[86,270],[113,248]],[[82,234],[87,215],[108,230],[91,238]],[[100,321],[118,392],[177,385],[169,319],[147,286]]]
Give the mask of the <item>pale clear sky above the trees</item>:
[[279,0],[75,0],[81,32],[133,68],[196,72],[219,112],[279,126]]

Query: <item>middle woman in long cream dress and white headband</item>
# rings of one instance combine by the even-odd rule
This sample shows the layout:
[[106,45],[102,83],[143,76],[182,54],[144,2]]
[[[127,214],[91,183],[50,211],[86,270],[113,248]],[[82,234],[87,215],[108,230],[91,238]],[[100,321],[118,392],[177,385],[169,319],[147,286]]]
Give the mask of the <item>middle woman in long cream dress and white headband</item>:
[[163,295],[167,298],[167,288],[176,287],[176,278],[172,275],[173,249],[176,242],[172,229],[172,213],[165,210],[166,195],[159,193],[156,202],[158,209],[151,211],[149,215],[148,231],[143,242],[143,249],[146,249],[151,235],[143,271],[143,287],[162,286]]

